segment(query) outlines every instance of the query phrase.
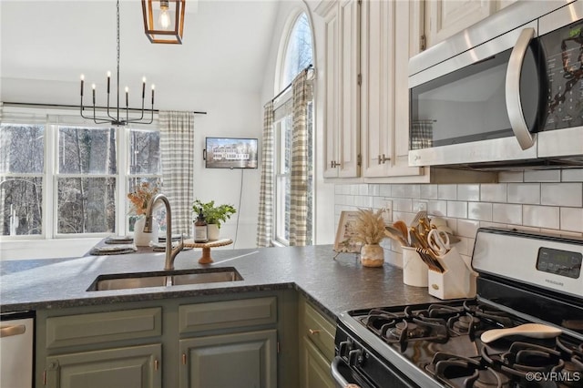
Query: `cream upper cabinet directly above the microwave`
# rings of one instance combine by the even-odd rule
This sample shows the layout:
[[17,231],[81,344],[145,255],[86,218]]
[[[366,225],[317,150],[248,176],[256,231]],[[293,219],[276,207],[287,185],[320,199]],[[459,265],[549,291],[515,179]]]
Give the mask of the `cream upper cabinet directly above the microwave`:
[[425,40],[435,46],[517,0],[425,0]]

